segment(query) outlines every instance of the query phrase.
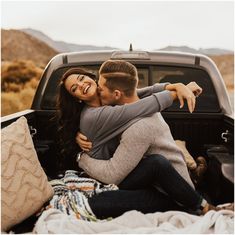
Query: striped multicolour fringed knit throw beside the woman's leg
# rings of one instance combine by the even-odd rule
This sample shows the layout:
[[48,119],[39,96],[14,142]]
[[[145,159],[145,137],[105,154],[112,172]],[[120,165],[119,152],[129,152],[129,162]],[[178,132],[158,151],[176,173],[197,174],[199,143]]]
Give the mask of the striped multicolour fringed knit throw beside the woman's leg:
[[52,180],[50,184],[55,194],[49,202],[49,208],[86,221],[98,220],[89,206],[88,198],[118,189],[114,184],[104,185],[91,178],[79,177],[79,173],[73,170],[66,171],[63,178]]

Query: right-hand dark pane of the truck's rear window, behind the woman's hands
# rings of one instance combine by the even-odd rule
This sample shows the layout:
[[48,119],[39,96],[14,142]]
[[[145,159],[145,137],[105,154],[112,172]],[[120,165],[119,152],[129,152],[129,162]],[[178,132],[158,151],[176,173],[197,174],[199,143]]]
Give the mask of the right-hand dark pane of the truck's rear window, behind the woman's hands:
[[[220,112],[219,102],[215,88],[209,74],[200,68],[152,66],[151,70],[153,83],[177,83],[188,84],[191,81],[197,82],[202,87],[203,93],[197,98],[195,112]],[[166,109],[166,111],[186,111],[186,106],[179,109],[178,101]]]

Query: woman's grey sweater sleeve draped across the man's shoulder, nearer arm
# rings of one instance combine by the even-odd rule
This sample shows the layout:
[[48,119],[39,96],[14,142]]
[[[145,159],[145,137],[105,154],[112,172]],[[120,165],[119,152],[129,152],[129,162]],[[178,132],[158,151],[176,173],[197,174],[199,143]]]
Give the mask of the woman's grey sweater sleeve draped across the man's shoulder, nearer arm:
[[[110,136],[114,131],[137,117],[146,117],[162,111],[172,102],[170,92],[162,91],[134,103],[94,108],[92,113],[81,119],[81,132],[92,142],[100,140]],[[85,126],[86,129],[82,126]]]

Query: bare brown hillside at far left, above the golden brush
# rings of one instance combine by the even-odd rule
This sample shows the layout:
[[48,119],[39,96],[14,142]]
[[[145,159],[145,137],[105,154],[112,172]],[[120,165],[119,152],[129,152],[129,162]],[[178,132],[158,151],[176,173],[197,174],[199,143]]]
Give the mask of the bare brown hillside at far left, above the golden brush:
[[58,52],[46,43],[20,30],[1,29],[2,61],[32,60],[44,67]]

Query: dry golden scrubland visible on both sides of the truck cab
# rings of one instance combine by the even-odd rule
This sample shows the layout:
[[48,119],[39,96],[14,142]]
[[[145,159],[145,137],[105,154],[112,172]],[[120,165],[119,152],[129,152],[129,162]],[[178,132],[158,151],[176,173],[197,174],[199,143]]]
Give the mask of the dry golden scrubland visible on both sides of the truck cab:
[[[212,56],[211,58],[218,66],[230,96],[233,97],[233,55]],[[1,69],[1,116],[30,108],[43,71],[42,67],[29,60],[17,60],[2,62]]]

